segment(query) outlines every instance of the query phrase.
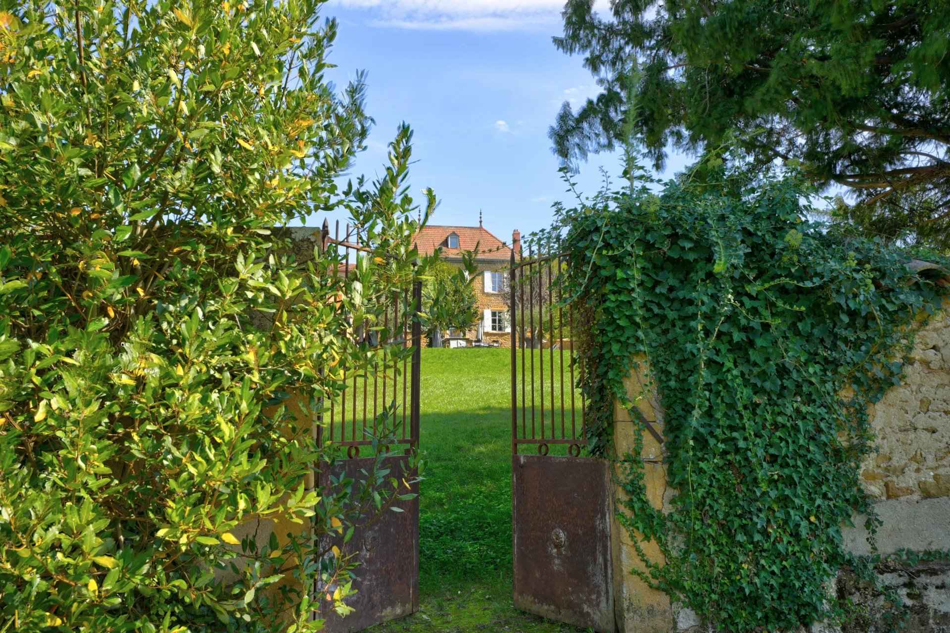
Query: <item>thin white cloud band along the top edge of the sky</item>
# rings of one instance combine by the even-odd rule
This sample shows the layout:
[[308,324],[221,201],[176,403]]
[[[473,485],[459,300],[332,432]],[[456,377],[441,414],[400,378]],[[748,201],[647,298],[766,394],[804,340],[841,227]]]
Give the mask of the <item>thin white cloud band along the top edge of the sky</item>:
[[[371,10],[373,24],[399,29],[511,30],[561,23],[564,0],[333,0],[332,5]],[[604,10],[608,0],[598,0]]]

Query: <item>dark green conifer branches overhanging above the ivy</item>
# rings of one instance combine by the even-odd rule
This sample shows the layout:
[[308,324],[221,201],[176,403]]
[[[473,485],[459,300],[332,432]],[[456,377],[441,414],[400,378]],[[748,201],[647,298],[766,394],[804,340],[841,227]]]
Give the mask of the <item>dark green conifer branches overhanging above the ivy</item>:
[[583,54],[603,92],[564,104],[550,136],[564,163],[637,129],[657,168],[737,139],[753,164],[801,165],[845,187],[839,217],[950,247],[950,6],[946,0],[617,0],[600,17],[568,0],[555,45]]

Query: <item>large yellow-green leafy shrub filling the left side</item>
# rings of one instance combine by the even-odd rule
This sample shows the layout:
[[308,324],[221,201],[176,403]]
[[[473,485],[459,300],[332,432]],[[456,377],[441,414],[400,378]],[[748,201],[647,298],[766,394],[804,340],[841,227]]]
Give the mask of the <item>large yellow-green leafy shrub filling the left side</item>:
[[[338,189],[371,121],[323,79],[321,4],[0,12],[0,630],[319,630],[314,581],[348,610],[314,543],[406,490],[377,463],[319,499],[311,420],[383,354],[354,333],[418,224],[408,128]],[[384,256],[349,277],[271,230],[334,208]]]

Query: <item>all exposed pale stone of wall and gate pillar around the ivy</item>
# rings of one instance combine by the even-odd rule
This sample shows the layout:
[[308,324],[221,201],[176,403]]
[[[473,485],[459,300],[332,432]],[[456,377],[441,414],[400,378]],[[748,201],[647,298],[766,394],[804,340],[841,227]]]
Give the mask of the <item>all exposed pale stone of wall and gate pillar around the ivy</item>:
[[[882,556],[902,549],[914,552],[950,551],[950,300],[932,317],[915,339],[901,385],[884,394],[872,409],[877,452],[862,468],[865,492],[878,500],[875,510],[883,521],[876,545]],[[626,381],[628,395],[643,416],[662,435],[663,412],[656,393],[636,372]],[[618,454],[634,446],[635,422],[615,405],[615,446]],[[668,508],[673,490],[666,482],[662,448],[644,432],[645,483],[655,508]],[[615,499],[622,500],[615,486]],[[845,547],[858,555],[871,553],[864,517],[855,528],[845,528]],[[613,526],[615,604],[621,633],[705,632],[693,611],[644,583],[631,569],[643,569],[627,531]],[[640,541],[650,560],[662,564],[655,544]],[[903,630],[908,633],[950,633],[950,563],[945,560],[907,566],[879,566],[880,585],[890,587],[906,605]],[[881,594],[842,574],[829,599],[853,603],[851,623],[844,628],[816,625],[823,633],[878,633],[887,630],[885,615],[892,613]]]

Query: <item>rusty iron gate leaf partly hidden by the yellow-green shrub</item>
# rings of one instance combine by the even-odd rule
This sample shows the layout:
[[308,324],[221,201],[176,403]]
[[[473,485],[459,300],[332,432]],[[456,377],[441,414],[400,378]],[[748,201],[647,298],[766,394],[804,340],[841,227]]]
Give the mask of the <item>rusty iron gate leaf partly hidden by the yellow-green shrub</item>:
[[[340,238],[339,223],[334,237],[324,222],[322,248],[336,248],[342,255],[333,275],[346,276],[351,272],[350,256],[374,256],[372,250],[360,243],[358,230],[346,227]],[[409,359],[405,355],[388,356],[371,368],[343,367],[342,393],[330,403],[329,413],[317,426],[317,443],[330,441],[345,452],[345,458],[333,465],[322,465],[317,485],[326,490],[358,480],[361,472],[371,470],[377,457],[373,448],[387,451],[385,466],[390,477],[397,481],[413,482],[410,456],[419,447],[419,397],[421,368],[422,325],[417,317],[422,303],[422,281],[414,279],[410,286],[391,297],[385,307],[382,329],[365,334],[367,344],[412,348]],[[326,409],[326,408],[325,408]],[[380,447],[374,443],[381,419],[398,427],[395,443]],[[372,454],[370,454],[372,453]],[[418,483],[410,483],[409,490],[418,494]],[[360,631],[376,623],[408,616],[419,610],[419,499],[397,501],[393,504],[402,511],[387,511],[377,520],[355,529],[348,548],[357,552],[359,566],[355,569],[353,588],[357,590],[352,601],[355,611],[341,618],[322,596],[314,596],[314,604],[322,610],[314,617],[324,619],[330,633]],[[332,539],[323,549],[334,545]],[[340,543],[339,545],[342,545]],[[318,587],[314,584],[314,592]]]

